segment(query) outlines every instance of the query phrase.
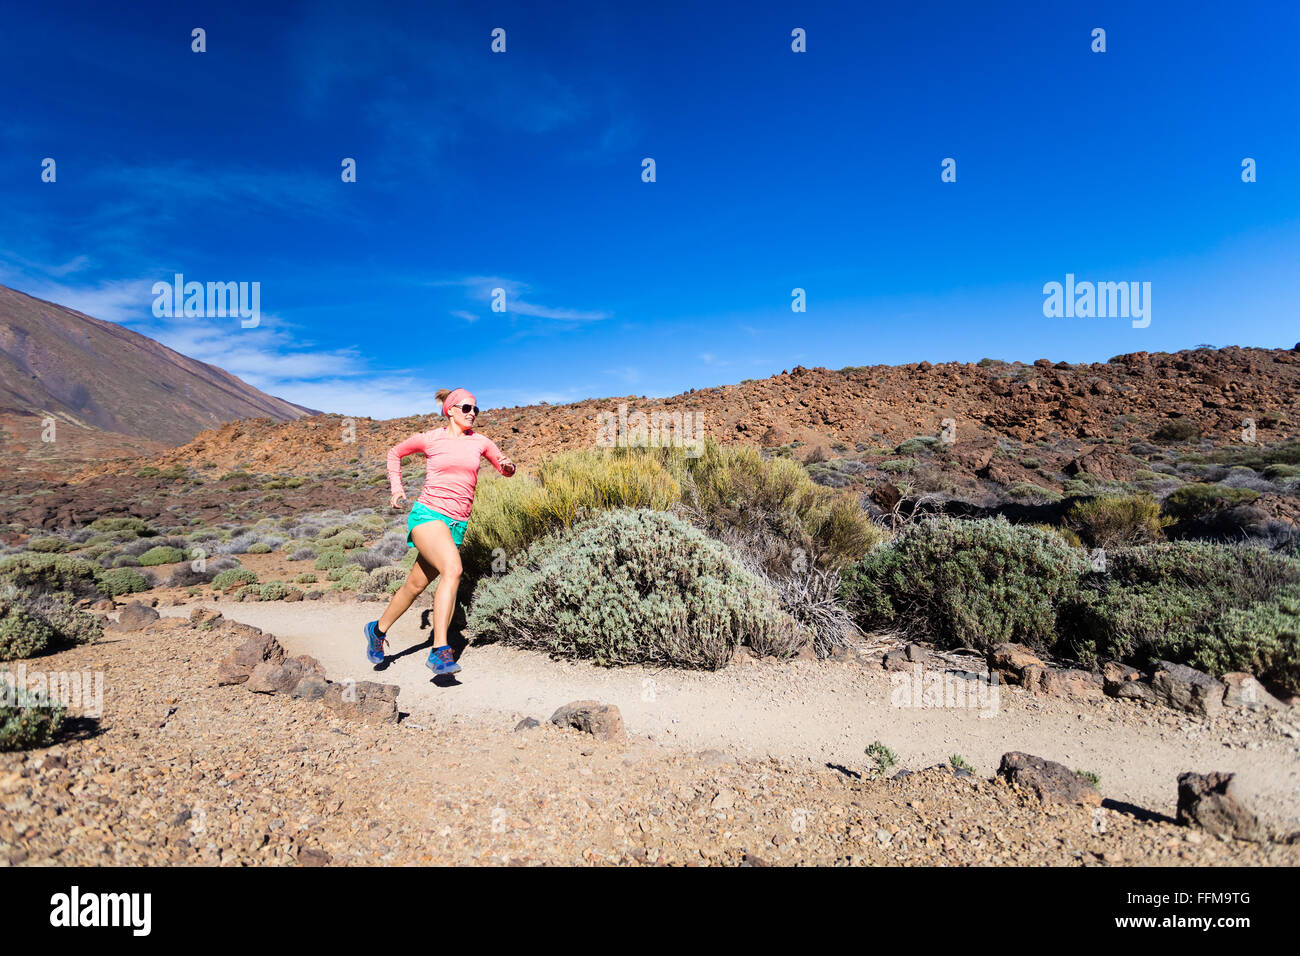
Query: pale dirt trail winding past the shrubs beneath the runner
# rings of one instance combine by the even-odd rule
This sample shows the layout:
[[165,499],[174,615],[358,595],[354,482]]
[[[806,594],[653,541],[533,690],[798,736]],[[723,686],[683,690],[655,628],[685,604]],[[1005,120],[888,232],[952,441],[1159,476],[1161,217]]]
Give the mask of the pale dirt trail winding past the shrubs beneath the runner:
[[[188,615],[194,604],[159,607]],[[455,679],[434,683],[424,661],[429,631],[412,609],[389,633],[390,658],[364,657],[361,628],[380,604],[204,601],[231,620],[276,635],[290,654],[311,654],[333,680],[400,685],[399,705],[420,714],[499,715],[545,721],[572,700],[615,704],[629,735],[685,749],[866,765],[863,748],[884,741],[906,769],[946,762],[959,753],[980,775],[996,773],[1008,750],[1060,761],[1101,775],[1102,796],[1174,816],[1176,777],[1186,770],[1231,770],[1257,793],[1273,826],[1300,830],[1300,714],[1232,713],[1213,722],[1165,708],[1106,698],[1078,702],[1034,697],[1001,687],[996,708],[893,706],[894,684],[874,663],[755,661],[719,672],[602,669],[551,661],[500,645],[469,646]],[[985,717],[980,717],[984,713]],[[1294,735],[1294,736],[1292,736]]]

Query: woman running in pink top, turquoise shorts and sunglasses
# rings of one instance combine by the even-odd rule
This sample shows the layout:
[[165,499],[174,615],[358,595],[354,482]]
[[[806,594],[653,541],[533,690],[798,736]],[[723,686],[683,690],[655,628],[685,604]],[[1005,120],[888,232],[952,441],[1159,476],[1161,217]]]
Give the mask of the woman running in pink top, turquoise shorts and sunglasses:
[[[446,395],[443,398],[443,395]],[[474,503],[478,462],[486,458],[506,477],[515,473],[515,463],[502,454],[490,438],[473,431],[478,405],[465,389],[439,392],[442,414],[448,420],[442,428],[412,434],[389,449],[389,486],[393,507],[406,499],[402,490],[402,459],[422,451],[426,459],[424,490],[407,516],[407,546],[416,549],[415,564],[406,583],[398,588],[389,609],[378,620],[365,626],[365,656],[370,663],[384,662],[385,633],[402,617],[434,575],[438,589],[433,594],[433,650],[425,666],[434,674],[460,670],[447,646],[447,627],[456,607],[460,585],[460,542],[465,538],[469,510]]]

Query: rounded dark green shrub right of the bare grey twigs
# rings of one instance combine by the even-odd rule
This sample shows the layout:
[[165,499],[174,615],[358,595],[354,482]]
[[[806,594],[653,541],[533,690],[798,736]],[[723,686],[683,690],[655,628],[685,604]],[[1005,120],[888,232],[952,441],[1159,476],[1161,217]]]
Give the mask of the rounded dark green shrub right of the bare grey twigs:
[[1087,557],[1060,535],[1005,518],[933,518],[845,570],[841,596],[867,628],[902,627],[946,646],[1015,641],[1046,650]]

